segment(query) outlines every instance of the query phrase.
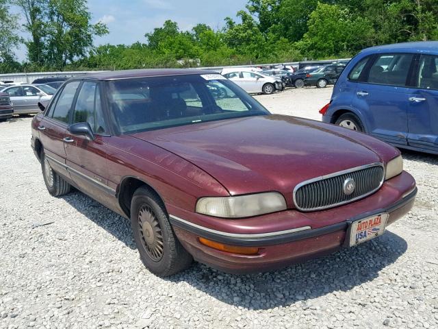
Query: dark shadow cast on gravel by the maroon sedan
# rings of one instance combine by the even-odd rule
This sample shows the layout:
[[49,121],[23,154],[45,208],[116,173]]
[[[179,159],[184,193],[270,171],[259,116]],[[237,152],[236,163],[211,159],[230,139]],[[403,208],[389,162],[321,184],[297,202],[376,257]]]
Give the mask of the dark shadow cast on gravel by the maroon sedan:
[[[136,249],[128,220],[83,193],[74,191],[62,198],[127,247]],[[239,276],[194,263],[190,269],[163,280],[186,282],[221,302],[246,309],[264,310],[298,301],[307,305],[309,300],[321,295],[349,291],[378,278],[379,272],[396,262],[406,250],[407,242],[388,230],[357,247],[285,269]]]

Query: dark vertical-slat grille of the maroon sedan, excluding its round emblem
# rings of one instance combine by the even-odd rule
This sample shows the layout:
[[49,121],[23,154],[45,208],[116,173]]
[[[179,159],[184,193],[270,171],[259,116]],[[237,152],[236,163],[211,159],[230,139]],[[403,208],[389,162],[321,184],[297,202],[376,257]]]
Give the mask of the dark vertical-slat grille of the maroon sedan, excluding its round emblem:
[[[303,211],[321,210],[353,202],[374,193],[383,184],[385,170],[381,163],[340,171],[298,184],[294,190],[296,208]],[[352,178],[356,188],[344,193],[344,182]]]

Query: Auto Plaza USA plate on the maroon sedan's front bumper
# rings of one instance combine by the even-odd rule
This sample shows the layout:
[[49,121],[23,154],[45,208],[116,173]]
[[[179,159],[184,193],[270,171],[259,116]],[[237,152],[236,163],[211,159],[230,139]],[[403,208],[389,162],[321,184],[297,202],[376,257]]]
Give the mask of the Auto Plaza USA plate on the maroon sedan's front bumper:
[[353,221],[350,229],[350,247],[382,235],[388,217],[387,212],[384,212],[360,221]]

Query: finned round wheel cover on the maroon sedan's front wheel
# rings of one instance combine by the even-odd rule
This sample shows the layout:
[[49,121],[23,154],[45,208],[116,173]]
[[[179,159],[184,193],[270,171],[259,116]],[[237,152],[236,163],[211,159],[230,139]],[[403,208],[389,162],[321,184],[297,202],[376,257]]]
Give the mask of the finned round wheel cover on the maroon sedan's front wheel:
[[154,262],[159,262],[163,258],[164,241],[162,229],[151,206],[144,204],[138,211],[138,226],[146,254]]

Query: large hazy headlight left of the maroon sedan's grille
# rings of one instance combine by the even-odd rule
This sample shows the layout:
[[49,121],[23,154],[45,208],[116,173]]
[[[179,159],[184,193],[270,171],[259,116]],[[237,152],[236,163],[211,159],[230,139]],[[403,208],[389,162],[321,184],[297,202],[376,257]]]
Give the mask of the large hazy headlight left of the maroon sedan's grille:
[[286,208],[285,198],[277,192],[237,197],[203,197],[196,203],[196,212],[224,218],[251,217]]

